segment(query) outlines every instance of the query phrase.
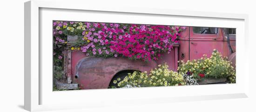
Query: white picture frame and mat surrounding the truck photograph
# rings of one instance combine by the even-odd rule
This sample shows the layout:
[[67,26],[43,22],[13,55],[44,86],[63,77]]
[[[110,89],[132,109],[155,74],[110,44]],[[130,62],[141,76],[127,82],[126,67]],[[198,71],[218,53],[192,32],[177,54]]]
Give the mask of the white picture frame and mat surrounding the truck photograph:
[[[197,101],[209,99],[231,99],[231,98],[246,98],[249,93],[249,56],[245,55],[249,51],[243,50],[248,48],[248,15],[246,14],[231,14],[231,13],[213,13],[213,12],[196,12],[185,10],[169,10],[169,9],[151,9],[139,8],[130,6],[119,7],[94,7],[93,5],[84,7],[83,4],[93,4],[95,1],[84,0],[31,0],[25,3],[25,109],[28,111],[45,111],[57,109],[73,109],[73,108],[90,108],[108,106],[111,104],[125,105],[133,103],[140,105],[141,103],[148,104],[150,100],[161,102],[179,102],[179,101]],[[74,20],[86,21],[81,18],[62,17],[57,13],[83,14],[90,12],[91,15],[100,16],[100,14],[115,16],[116,18],[125,18],[128,16],[136,16],[139,19],[127,20],[129,23],[149,23],[154,24],[169,24],[166,19],[177,19],[173,25],[177,26],[216,26],[216,27],[236,27],[237,28],[237,60],[236,73],[237,83],[227,85],[207,85],[207,86],[174,86],[174,87],[149,87],[135,89],[100,89],[100,90],[77,90],[77,91],[52,91],[52,74],[51,71],[44,67],[47,65],[47,57],[52,56],[51,46],[41,48],[52,42],[52,37],[49,39],[40,38],[48,37],[52,31],[52,24],[49,20]],[[92,13],[93,12],[93,13]],[[89,13],[87,13],[89,14]],[[58,17],[55,17],[56,15]],[[43,17],[42,17],[43,16]],[[142,19],[150,18],[142,21]],[[153,19],[155,18],[155,19]],[[157,19],[162,19],[162,22]],[[43,20],[40,20],[43,19]],[[88,18],[93,20],[95,18]],[[185,21],[182,21],[185,19]],[[187,20],[186,20],[187,19]],[[123,22],[124,19],[95,19],[99,22]],[[180,20],[180,21],[179,21]],[[189,20],[200,20],[200,22],[191,22]],[[213,22],[211,22],[213,21]],[[46,23],[42,24],[40,22]],[[223,24],[222,24],[223,23]],[[232,24],[237,23],[237,24]],[[50,30],[47,30],[49,28]],[[42,34],[42,32],[44,32]],[[47,56],[48,55],[48,56]],[[42,58],[43,57],[43,58]],[[45,58],[46,57],[46,58]],[[243,60],[242,60],[243,59]],[[51,59],[49,59],[51,61]],[[49,62],[50,62],[49,61]],[[43,64],[42,64],[43,62]],[[243,62],[243,65],[242,65]],[[49,63],[48,63],[49,64]],[[240,65],[239,65],[240,64]],[[42,73],[43,70],[43,73]],[[47,71],[49,70],[49,71]],[[49,82],[49,83],[45,83]],[[208,90],[208,89],[211,90]],[[51,91],[50,91],[51,90]],[[175,90],[175,92],[173,92]],[[207,92],[203,90],[208,90]],[[187,93],[186,91],[191,91]],[[170,93],[171,92],[171,93]],[[102,94],[104,93],[104,94]],[[129,93],[146,94],[138,97],[138,95]],[[161,96],[152,96],[159,94]],[[72,98],[67,97],[72,96]],[[88,97],[89,96],[89,97]],[[113,99],[113,97],[119,99]],[[65,99],[65,100],[63,100]],[[121,101],[122,103],[120,103]],[[69,103],[68,103],[69,102]],[[70,103],[70,102],[76,102]],[[137,102],[137,103],[136,103]],[[67,106],[68,104],[68,106]]]

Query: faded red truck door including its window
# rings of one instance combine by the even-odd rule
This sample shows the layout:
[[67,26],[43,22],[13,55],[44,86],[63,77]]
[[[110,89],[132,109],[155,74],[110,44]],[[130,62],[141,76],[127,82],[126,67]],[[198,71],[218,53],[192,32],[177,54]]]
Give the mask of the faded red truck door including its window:
[[189,27],[189,60],[200,59],[203,54],[210,57],[213,49],[223,53],[221,28]]

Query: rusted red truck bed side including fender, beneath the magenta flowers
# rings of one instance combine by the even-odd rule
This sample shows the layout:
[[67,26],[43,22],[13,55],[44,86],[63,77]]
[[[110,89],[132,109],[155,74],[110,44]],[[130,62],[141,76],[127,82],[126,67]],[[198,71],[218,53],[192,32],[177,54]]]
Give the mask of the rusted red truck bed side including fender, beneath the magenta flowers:
[[118,58],[96,58],[86,57],[84,53],[75,51],[72,53],[72,74],[73,81],[78,83],[81,89],[102,89],[108,88],[111,79],[116,73],[124,70],[138,70],[150,72],[159,64],[167,63],[169,69],[177,70],[176,45],[172,52],[162,53],[162,58],[157,61],[145,62],[142,60],[131,60],[123,57]]

